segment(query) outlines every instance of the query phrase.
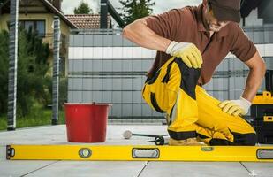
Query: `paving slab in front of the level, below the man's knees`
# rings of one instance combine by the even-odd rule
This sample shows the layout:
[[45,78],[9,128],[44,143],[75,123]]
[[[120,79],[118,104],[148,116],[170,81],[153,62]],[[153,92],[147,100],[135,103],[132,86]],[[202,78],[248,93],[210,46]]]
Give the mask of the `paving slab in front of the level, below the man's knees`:
[[140,177],[249,177],[244,166],[228,162],[148,162]]

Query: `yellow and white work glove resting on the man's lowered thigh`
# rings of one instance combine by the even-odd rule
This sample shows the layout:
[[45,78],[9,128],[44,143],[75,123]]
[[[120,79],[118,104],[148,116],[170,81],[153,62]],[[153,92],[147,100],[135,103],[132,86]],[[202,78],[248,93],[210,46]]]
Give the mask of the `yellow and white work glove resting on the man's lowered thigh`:
[[242,96],[239,98],[239,100],[225,100],[219,104],[219,107],[222,108],[223,112],[233,116],[246,115],[250,106],[251,102]]

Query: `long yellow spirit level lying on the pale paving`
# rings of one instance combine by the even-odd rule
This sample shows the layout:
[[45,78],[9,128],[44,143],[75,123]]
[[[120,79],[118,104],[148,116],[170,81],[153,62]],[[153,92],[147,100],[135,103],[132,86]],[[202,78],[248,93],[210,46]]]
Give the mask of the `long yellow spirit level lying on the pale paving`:
[[273,146],[8,145],[8,160],[273,162]]

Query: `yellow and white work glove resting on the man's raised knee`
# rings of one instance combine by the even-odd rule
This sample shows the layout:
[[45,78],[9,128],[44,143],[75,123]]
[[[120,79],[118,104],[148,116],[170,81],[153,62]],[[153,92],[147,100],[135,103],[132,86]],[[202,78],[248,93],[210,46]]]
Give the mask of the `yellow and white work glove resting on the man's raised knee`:
[[193,43],[173,41],[168,46],[166,53],[176,58],[182,58],[188,67],[195,69],[201,68],[203,63],[201,52]]

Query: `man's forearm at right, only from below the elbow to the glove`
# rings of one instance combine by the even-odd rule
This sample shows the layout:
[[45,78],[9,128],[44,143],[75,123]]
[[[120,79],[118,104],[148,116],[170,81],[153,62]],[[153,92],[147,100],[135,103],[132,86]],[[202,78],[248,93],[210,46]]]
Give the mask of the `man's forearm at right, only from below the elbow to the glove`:
[[244,90],[242,97],[252,102],[252,100],[254,99],[254,96],[256,96],[257,91],[262,84],[264,74],[265,74],[265,69],[263,68],[250,69],[246,79],[246,88]]

